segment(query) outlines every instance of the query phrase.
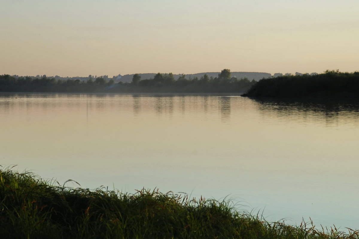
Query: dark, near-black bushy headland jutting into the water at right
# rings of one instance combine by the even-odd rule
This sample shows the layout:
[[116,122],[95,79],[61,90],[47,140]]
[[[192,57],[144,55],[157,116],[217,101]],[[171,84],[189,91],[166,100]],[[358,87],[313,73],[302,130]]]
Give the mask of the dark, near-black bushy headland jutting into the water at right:
[[242,96],[254,97],[359,97],[359,72],[325,71],[258,81]]

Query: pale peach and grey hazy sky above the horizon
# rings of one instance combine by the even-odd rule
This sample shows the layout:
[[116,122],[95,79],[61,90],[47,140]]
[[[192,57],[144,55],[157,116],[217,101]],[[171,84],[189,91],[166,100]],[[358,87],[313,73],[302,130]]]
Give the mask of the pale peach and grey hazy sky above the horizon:
[[359,71],[358,0],[0,0],[0,74]]

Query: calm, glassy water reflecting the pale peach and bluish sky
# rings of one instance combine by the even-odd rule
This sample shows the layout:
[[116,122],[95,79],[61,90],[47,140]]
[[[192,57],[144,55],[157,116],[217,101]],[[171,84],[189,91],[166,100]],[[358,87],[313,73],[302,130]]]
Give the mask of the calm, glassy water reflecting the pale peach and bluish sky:
[[358,110],[349,100],[3,93],[0,165],[359,229]]

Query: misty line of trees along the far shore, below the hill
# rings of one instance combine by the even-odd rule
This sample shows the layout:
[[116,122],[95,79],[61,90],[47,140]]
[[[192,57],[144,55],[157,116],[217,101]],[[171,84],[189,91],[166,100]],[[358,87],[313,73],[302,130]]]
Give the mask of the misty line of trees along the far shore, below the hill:
[[56,80],[41,78],[0,75],[0,92],[246,92],[255,80],[231,77],[230,70],[224,69],[218,77],[204,75],[186,77],[181,75],[175,80],[172,73],[157,73],[153,78],[141,79],[139,74],[132,77],[131,83],[114,83],[111,79],[97,77],[85,80]]

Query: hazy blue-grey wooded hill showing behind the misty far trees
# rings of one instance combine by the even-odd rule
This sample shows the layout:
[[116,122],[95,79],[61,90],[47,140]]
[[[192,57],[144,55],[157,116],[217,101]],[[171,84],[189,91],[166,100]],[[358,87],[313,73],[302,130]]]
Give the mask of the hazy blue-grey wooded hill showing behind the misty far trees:
[[[209,77],[213,76],[213,77],[218,77],[218,74],[220,72],[202,72],[202,73],[195,73],[195,74],[187,74],[186,78],[188,79],[189,77],[194,78],[194,77],[198,77],[200,78],[201,76],[204,76],[205,74],[207,74]],[[134,74],[130,74],[130,75],[124,75],[122,76],[122,78],[115,80],[116,83],[122,81],[123,83],[125,82],[131,82],[132,81],[132,77]],[[156,74],[155,73],[144,73],[144,74],[139,74],[141,76],[141,80],[145,80],[145,79],[150,79],[153,78]],[[180,77],[180,74],[173,74],[174,78],[177,80],[178,77]],[[248,78],[248,80],[261,80],[262,78],[268,78],[271,77],[272,75],[270,73],[265,73],[265,72],[231,72],[231,77],[236,77],[238,79],[241,78]]]

